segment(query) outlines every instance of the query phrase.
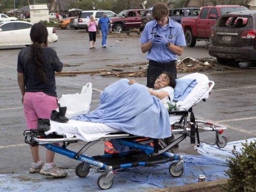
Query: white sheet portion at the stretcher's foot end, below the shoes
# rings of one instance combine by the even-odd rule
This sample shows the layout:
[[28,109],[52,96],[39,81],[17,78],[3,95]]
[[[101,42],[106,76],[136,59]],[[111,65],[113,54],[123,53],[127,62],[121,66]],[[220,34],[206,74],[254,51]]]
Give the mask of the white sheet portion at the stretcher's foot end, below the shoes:
[[45,132],[47,135],[57,132],[59,134],[66,134],[67,137],[76,136],[84,141],[97,140],[106,134],[119,131],[105,124],[81,122],[73,119],[70,119],[67,123],[50,121],[50,124],[50,131]]

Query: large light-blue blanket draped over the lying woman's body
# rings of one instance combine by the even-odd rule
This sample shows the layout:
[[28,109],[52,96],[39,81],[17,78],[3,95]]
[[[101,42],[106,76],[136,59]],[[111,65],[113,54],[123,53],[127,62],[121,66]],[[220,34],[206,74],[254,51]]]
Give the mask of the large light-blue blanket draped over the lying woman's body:
[[171,135],[168,111],[147,87],[121,79],[100,93],[97,109],[73,119],[103,123],[121,131],[151,138]]

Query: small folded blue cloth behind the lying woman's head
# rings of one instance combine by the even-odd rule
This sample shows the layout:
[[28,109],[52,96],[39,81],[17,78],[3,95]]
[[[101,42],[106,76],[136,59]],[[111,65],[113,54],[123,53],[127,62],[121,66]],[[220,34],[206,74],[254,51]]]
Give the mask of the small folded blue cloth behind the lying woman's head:
[[184,101],[188,93],[196,86],[196,79],[176,79],[174,101]]

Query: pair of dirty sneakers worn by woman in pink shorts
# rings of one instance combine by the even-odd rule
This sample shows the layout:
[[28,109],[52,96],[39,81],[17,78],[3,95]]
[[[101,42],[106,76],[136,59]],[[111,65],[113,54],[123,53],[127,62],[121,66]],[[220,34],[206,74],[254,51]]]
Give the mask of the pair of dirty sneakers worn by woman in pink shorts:
[[50,167],[47,167],[44,162],[32,163],[29,169],[29,173],[39,173],[41,175],[52,176],[52,177],[66,177],[67,172],[61,171],[56,164],[52,163]]

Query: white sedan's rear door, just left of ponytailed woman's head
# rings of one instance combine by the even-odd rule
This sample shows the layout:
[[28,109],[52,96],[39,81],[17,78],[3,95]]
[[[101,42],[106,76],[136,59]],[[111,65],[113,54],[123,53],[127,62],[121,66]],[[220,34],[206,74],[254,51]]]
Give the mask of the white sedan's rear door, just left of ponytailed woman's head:
[[32,25],[30,23],[16,22],[16,38],[17,44],[31,44],[30,30]]

